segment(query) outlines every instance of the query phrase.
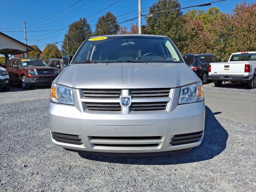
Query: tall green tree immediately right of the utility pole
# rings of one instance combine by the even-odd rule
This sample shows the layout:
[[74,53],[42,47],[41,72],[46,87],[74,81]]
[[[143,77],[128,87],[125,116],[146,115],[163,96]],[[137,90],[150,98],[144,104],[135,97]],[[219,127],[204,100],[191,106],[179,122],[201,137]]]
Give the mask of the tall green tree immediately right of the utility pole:
[[[149,8],[148,14],[180,7],[178,0],[158,0]],[[144,33],[168,36],[180,50],[184,48],[184,17],[180,10],[149,15],[146,22]]]

